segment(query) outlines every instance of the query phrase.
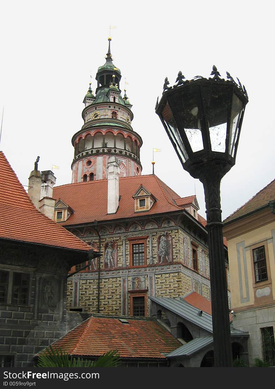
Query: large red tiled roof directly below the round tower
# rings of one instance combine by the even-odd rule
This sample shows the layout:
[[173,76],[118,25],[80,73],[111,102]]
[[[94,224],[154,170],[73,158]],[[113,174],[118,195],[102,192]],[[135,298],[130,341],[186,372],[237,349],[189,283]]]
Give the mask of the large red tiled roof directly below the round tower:
[[[134,177],[121,177],[119,179],[118,210],[116,214],[107,215],[107,190],[108,180],[95,180],[88,182],[78,182],[57,186],[54,188],[53,197],[60,198],[73,208],[75,213],[62,225],[89,223],[97,221],[136,217],[134,199],[132,196],[138,188],[143,185],[157,201],[146,216],[163,212],[180,210],[174,203],[174,198],[179,195],[162,182],[156,175],[139,175]],[[139,216],[142,213],[138,214]]]

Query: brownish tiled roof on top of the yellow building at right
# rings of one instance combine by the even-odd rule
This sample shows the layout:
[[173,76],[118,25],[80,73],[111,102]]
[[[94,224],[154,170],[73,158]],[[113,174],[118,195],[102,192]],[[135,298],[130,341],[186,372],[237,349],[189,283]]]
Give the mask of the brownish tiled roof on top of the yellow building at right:
[[256,211],[257,209],[268,205],[268,202],[275,200],[275,180],[271,181],[263,189],[261,189],[255,196],[253,196],[247,203],[238,208],[233,214],[226,217],[223,223],[227,223],[238,217]]

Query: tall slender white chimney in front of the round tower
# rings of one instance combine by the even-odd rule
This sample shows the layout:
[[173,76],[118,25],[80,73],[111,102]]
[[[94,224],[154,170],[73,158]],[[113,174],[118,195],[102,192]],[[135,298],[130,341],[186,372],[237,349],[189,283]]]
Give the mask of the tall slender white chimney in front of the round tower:
[[108,161],[108,214],[115,214],[118,209],[118,176],[120,168],[117,158],[111,156]]

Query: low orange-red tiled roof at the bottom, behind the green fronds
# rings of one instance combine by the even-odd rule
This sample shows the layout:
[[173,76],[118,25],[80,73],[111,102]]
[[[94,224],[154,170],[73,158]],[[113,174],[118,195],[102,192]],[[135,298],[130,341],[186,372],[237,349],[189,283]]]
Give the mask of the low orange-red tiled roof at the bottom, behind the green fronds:
[[162,353],[181,346],[155,320],[93,317],[71,330],[53,344],[69,355],[100,356],[109,350],[118,350],[122,358],[165,358]]

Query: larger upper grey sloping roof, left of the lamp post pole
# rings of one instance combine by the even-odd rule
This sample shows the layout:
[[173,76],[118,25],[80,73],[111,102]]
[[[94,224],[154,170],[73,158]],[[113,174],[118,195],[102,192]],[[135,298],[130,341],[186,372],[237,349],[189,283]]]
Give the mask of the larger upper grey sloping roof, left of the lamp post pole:
[[151,301],[161,305],[174,314],[182,317],[183,319],[190,321],[200,328],[213,333],[212,330],[212,316],[206,312],[201,312],[200,309],[193,307],[182,298],[169,298],[169,297],[149,297]]

